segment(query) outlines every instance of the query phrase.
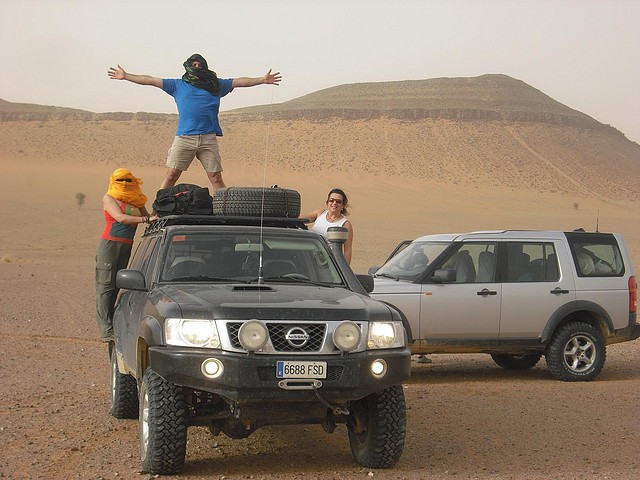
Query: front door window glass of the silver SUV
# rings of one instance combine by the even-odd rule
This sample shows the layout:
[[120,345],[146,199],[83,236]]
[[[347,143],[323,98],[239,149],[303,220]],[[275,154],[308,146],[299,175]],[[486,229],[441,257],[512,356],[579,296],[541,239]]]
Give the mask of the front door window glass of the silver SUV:
[[465,242],[440,267],[455,271],[455,283],[496,281],[496,243]]

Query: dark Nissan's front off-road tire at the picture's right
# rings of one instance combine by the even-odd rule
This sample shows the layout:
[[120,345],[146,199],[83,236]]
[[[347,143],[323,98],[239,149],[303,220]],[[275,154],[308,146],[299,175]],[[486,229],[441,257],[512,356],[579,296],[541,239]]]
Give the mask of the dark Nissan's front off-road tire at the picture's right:
[[401,385],[372,393],[351,406],[347,422],[353,458],[363,467],[388,468],[404,450],[407,411]]

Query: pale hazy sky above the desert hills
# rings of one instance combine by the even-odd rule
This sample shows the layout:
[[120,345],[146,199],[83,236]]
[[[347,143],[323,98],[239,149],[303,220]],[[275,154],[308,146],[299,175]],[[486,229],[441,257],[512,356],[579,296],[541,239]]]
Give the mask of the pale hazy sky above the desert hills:
[[0,98],[176,113],[154,87],[201,53],[220,77],[282,72],[222,109],[346,83],[502,73],[640,143],[640,0],[0,0]]

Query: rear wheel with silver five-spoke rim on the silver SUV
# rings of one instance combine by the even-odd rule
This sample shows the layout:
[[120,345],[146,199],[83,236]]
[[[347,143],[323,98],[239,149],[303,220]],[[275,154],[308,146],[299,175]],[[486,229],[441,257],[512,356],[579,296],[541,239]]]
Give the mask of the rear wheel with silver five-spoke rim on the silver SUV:
[[561,326],[545,353],[551,374],[565,382],[588,382],[598,376],[606,360],[600,330],[584,322]]

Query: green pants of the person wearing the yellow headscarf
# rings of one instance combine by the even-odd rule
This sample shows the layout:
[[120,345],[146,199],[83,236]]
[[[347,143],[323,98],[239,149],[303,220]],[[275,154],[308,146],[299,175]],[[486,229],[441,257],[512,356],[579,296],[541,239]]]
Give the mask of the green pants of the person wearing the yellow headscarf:
[[131,244],[100,239],[96,249],[96,319],[100,337],[113,336],[113,309],[118,295],[116,274],[127,268]]

